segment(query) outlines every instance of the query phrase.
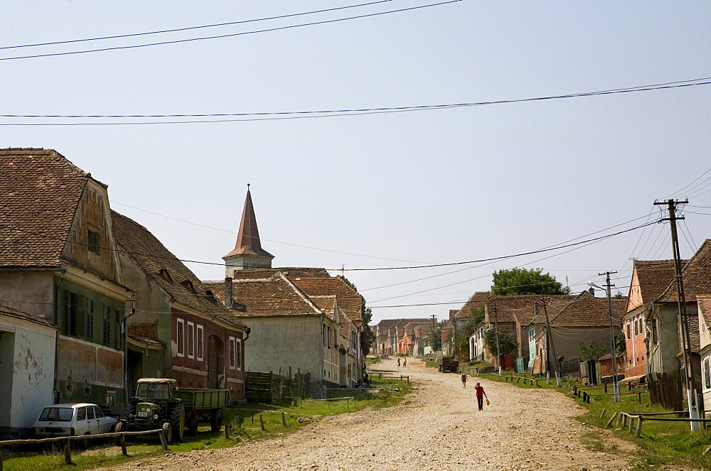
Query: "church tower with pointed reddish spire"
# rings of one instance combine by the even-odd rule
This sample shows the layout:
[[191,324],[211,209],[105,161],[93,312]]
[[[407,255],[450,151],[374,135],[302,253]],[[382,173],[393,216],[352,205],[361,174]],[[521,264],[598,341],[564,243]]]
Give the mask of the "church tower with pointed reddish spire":
[[225,276],[232,278],[236,270],[253,268],[270,269],[274,255],[262,249],[260,232],[257,229],[257,217],[252,206],[250,185],[247,184],[247,199],[245,209],[242,211],[240,233],[237,234],[235,249],[223,256],[225,261]]

